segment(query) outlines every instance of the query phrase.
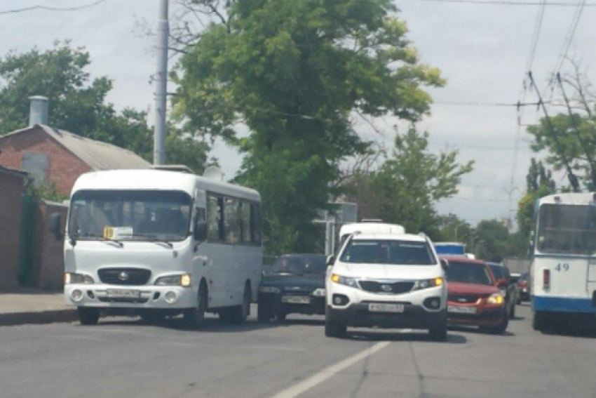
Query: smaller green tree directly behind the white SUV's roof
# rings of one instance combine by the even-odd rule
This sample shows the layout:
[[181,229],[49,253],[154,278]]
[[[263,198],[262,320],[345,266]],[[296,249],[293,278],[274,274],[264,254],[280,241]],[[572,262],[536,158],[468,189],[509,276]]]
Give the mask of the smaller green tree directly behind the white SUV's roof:
[[428,152],[428,133],[414,127],[403,135],[396,133],[391,157],[369,175],[348,182],[348,200],[367,208],[367,218],[381,218],[404,225],[408,232],[441,239],[442,219],[435,203],[456,194],[461,176],[473,168],[473,161],[458,164],[457,154],[456,150]]

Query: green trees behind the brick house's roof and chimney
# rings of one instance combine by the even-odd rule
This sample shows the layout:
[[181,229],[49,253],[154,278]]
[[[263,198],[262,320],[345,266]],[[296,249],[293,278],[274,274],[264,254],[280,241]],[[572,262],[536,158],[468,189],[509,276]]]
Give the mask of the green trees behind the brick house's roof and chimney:
[[[86,72],[90,63],[90,54],[68,41],[47,51],[11,51],[0,58],[0,135],[28,126],[29,96],[44,95],[49,98],[50,126],[109,142],[152,161],[153,131],[147,126],[147,112],[131,108],[116,112],[105,100],[112,81],[91,79]],[[165,149],[168,163],[187,164],[201,173],[209,145],[170,125]]]

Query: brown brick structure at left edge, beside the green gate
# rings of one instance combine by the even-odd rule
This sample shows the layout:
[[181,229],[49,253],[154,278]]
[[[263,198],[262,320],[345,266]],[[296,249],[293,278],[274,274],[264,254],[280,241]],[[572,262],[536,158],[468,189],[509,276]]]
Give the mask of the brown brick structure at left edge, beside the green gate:
[[0,166],[0,289],[18,286],[21,200],[27,173]]

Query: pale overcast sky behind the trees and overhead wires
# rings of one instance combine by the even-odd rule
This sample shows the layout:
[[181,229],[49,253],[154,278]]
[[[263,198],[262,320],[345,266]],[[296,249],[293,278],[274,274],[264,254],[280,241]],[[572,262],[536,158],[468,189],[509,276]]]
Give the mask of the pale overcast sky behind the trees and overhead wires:
[[[69,12],[37,9],[2,13],[38,5],[69,8],[96,1],[0,0],[0,57],[10,50],[46,49],[56,40],[69,39],[90,52],[92,65],[88,71],[92,77],[114,80],[109,102],[118,109],[135,107],[153,112],[154,86],[150,79],[156,70],[155,39],[145,34],[143,26],[156,26],[158,0],[104,0],[97,6]],[[558,2],[577,4],[578,0]],[[177,10],[176,0],[170,4],[172,16]],[[433,153],[458,150],[459,161],[475,161],[474,171],[463,177],[456,197],[440,202],[438,210],[454,213],[473,225],[480,220],[515,218],[530,159],[544,154],[529,149],[530,137],[518,126],[515,107],[470,104],[515,104],[522,98],[540,8],[421,0],[399,0],[396,4],[421,62],[439,67],[447,79],[444,88],[430,91],[434,101],[431,115],[419,123],[419,129],[430,133]],[[560,58],[574,13],[574,6],[545,8],[531,67],[543,97],[550,93],[548,77]],[[594,18],[596,7],[583,8],[569,49],[569,55],[581,60],[592,81],[596,81]],[[536,94],[527,93],[526,101],[535,102]],[[539,116],[536,107],[527,107],[522,124],[533,124]],[[385,132],[382,135],[372,133],[364,121],[359,131],[391,147],[395,124],[405,128],[400,121],[386,117],[374,120],[377,129]],[[236,152],[218,142],[212,155],[219,159],[226,178],[232,178],[241,162]]]

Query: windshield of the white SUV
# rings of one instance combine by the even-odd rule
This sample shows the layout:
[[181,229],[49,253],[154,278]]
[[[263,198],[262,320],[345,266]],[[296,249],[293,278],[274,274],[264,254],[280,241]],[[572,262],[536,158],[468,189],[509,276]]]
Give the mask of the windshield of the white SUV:
[[343,263],[392,265],[435,265],[437,261],[426,241],[352,239],[343,253]]

